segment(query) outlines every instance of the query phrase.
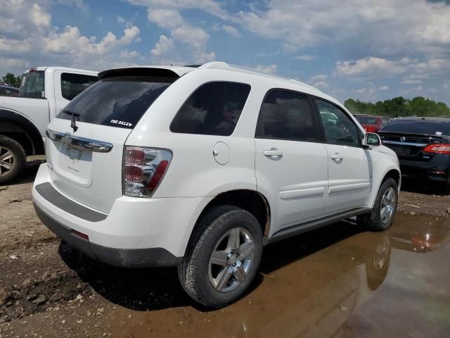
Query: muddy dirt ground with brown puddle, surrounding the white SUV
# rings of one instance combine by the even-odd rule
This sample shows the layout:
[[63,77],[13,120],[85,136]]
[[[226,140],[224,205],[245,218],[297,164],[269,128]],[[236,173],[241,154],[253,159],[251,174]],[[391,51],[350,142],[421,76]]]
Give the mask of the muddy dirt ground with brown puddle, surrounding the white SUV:
[[267,246],[250,292],[207,311],[174,268],[61,244],[32,208],[37,164],[0,187],[0,338],[450,336],[450,196],[405,185],[386,232],[349,221]]

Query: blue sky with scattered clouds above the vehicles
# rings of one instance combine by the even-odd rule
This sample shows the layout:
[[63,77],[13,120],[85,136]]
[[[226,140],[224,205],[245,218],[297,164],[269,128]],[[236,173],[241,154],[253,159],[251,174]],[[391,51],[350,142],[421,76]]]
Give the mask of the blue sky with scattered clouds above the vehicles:
[[450,1],[0,0],[0,75],[225,61],[341,101],[450,105]]

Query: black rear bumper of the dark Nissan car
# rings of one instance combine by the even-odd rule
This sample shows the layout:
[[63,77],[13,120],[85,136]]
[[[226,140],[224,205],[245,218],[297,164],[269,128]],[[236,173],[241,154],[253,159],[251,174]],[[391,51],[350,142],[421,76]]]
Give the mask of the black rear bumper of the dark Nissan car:
[[450,156],[435,155],[430,162],[400,160],[400,168],[405,178],[450,182]]

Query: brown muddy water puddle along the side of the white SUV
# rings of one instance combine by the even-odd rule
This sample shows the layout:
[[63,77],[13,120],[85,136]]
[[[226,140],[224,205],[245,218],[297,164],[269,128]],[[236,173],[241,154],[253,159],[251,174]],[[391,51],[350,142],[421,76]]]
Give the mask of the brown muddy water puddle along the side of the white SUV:
[[186,320],[141,313],[117,330],[123,337],[148,337],[155,327],[167,337],[449,337],[449,242],[449,218],[400,214],[378,233],[337,223],[267,246],[259,279],[238,303],[210,312],[186,307],[179,311]]

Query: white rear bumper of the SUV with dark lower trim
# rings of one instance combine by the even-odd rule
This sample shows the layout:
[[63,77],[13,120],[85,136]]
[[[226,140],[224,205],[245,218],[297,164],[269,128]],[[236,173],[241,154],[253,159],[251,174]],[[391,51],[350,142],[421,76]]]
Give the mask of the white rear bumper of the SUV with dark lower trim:
[[198,216],[212,199],[121,196],[110,213],[100,213],[54,188],[46,163],[39,167],[32,196],[42,223],[58,237],[91,258],[123,267],[178,265]]

